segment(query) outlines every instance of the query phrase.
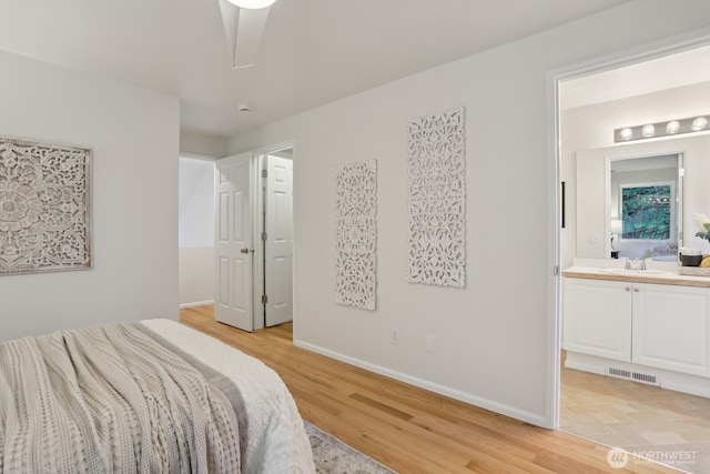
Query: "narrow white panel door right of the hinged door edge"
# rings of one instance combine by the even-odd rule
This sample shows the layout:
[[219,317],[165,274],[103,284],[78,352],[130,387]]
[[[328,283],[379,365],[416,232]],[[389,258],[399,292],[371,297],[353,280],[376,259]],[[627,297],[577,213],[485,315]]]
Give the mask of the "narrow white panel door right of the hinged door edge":
[[266,159],[266,325],[293,320],[293,161]]

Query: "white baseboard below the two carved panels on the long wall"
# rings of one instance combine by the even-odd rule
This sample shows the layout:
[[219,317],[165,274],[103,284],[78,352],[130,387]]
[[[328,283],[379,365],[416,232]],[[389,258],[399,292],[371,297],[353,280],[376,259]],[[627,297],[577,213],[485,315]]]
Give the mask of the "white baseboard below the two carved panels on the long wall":
[[547,426],[550,426],[549,421],[546,420],[544,416],[516,409],[515,406],[509,406],[493,400],[475,396],[456,389],[447,387],[447,386],[439,385],[437,383],[429,382],[419,377],[415,377],[402,372],[393,371],[390,369],[372,364],[369,362],[366,362],[359,359],[351,357],[348,355],[341,354],[339,352],[334,352],[328,349],[324,349],[304,341],[294,340],[293,343],[295,346],[305,349],[306,351],[315,352],[316,354],[325,355],[326,357],[345,362],[346,364],[351,364],[356,367],[364,369],[366,371],[369,371],[379,375],[388,376],[399,382],[408,383],[409,385],[418,386],[419,389],[428,390],[429,392],[438,393],[439,395],[445,395],[450,399],[468,403],[469,405],[475,405],[480,409],[499,413],[501,415],[510,416],[513,418],[520,420],[523,422],[527,422],[536,426],[541,426],[546,428]]

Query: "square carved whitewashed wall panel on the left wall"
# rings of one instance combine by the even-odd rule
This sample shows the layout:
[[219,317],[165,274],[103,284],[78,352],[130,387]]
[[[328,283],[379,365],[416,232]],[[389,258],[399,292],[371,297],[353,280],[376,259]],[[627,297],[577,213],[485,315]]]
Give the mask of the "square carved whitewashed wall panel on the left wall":
[[0,138],[0,274],[91,268],[91,151]]

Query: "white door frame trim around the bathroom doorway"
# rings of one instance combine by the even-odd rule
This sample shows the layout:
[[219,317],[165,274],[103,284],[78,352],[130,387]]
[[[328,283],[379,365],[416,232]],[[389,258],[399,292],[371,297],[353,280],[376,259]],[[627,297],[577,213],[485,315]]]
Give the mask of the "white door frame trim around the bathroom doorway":
[[560,350],[561,350],[561,134],[559,130],[559,82],[579,79],[599,72],[623,68],[662,58],[665,56],[710,46],[710,28],[692,30],[662,40],[652,41],[639,47],[626,49],[613,54],[575,63],[547,73],[547,129],[548,129],[548,222],[552,239],[548,243],[548,255],[552,271],[548,280],[548,334],[547,344],[547,404],[546,420],[550,428],[559,430],[560,397]]

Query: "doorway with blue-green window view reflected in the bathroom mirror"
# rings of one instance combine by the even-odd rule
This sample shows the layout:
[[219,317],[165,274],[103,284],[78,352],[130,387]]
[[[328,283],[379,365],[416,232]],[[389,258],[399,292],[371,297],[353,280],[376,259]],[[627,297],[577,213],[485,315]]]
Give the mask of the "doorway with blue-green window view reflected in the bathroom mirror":
[[682,161],[682,153],[607,159],[611,258],[678,260]]

